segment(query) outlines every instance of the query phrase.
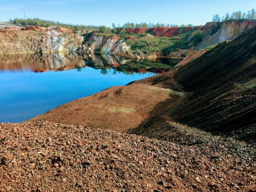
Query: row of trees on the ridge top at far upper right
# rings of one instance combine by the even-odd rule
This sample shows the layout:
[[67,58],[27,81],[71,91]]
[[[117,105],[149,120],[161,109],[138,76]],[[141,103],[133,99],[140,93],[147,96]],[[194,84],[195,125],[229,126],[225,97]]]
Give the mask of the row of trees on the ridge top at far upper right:
[[241,11],[236,11],[236,12],[233,12],[231,15],[229,15],[229,13],[226,13],[226,15],[223,17],[220,17],[219,14],[213,15],[214,22],[240,20],[240,19],[256,19],[255,9],[248,11],[247,14],[242,13]]

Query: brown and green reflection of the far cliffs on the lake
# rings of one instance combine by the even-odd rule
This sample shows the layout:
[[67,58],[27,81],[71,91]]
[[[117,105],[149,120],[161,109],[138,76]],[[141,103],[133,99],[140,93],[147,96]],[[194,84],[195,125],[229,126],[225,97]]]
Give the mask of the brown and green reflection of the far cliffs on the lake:
[[123,73],[165,73],[172,68],[178,60],[170,61],[135,61],[115,55],[95,55],[77,53],[54,53],[54,54],[17,54],[1,55],[0,70],[34,72],[63,71],[85,66],[95,69],[114,68]]

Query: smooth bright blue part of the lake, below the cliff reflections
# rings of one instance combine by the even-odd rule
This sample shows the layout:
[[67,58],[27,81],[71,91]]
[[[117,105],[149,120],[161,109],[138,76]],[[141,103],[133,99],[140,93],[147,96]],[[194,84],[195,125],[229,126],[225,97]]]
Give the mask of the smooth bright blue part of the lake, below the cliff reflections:
[[[0,122],[22,122],[71,100],[154,75],[114,73],[90,67],[66,71],[0,71]],[[114,73],[114,74],[113,74]]]

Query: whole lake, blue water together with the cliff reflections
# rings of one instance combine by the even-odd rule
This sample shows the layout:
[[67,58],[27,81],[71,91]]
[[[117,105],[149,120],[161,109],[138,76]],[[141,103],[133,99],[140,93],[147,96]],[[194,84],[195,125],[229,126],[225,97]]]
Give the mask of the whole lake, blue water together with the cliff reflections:
[[0,55],[0,122],[22,122],[107,87],[169,71],[180,60],[78,53]]

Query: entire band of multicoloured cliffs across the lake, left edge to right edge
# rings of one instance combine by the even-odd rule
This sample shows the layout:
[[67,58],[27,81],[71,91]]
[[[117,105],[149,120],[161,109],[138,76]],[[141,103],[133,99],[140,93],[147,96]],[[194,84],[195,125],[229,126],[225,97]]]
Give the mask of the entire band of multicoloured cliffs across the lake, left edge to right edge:
[[[185,57],[194,50],[233,40],[256,26],[255,20],[209,22],[199,27],[132,28],[74,33],[60,27],[0,29],[0,54],[20,52],[103,52],[134,58]],[[202,31],[202,39],[194,36]]]

